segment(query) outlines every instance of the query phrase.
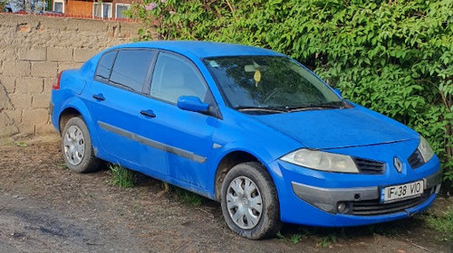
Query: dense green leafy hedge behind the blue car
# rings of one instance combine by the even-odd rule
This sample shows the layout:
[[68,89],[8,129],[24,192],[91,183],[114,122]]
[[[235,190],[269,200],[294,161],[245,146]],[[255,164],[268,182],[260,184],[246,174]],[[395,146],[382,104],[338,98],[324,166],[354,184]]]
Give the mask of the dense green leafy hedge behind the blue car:
[[453,1],[145,0],[130,16],[145,23],[141,40],[237,42],[290,55],[345,98],[427,137],[453,180]]

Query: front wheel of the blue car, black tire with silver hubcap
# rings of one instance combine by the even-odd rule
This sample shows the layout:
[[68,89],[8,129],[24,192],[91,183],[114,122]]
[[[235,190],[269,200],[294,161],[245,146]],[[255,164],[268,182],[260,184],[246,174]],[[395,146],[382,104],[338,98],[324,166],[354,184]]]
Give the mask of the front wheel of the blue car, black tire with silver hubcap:
[[241,237],[264,239],[280,230],[277,192],[263,165],[249,162],[234,166],[226,173],[221,198],[226,224]]

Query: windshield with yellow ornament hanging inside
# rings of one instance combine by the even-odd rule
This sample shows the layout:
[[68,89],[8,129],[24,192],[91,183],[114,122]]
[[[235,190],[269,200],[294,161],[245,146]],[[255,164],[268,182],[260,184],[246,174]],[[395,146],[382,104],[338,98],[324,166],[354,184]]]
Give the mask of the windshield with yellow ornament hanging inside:
[[234,56],[204,62],[232,108],[288,111],[343,106],[342,98],[322,80],[287,57]]

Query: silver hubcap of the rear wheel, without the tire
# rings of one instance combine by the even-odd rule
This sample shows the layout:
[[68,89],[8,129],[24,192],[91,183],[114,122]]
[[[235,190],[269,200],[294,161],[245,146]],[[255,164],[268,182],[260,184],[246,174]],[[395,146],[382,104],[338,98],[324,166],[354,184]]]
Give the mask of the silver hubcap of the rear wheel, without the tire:
[[82,130],[78,126],[70,126],[63,138],[64,155],[66,160],[72,165],[82,163],[85,155],[85,138]]

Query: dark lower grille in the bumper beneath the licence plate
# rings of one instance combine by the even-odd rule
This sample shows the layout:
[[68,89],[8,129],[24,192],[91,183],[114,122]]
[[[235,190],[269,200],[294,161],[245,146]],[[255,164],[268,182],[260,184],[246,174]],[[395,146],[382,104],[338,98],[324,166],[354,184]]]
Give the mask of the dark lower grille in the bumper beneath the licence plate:
[[432,194],[432,189],[427,189],[425,191],[426,192],[417,198],[390,203],[381,203],[379,200],[353,201],[351,202],[351,214],[368,216],[403,211],[428,200],[429,196]]

